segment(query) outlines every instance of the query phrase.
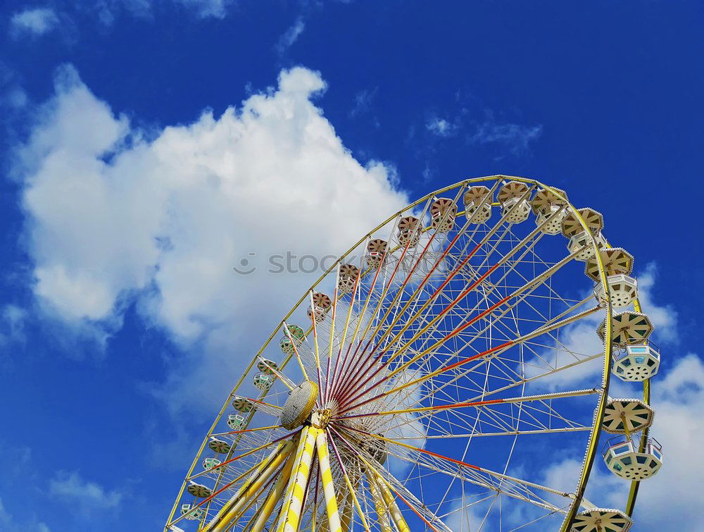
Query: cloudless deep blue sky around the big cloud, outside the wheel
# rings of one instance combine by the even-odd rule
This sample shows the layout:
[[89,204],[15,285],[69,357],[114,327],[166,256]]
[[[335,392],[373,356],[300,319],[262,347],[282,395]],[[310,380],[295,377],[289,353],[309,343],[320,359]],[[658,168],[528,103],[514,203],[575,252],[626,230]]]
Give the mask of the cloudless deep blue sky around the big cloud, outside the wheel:
[[[575,205],[605,213],[608,237],[636,256],[636,269],[657,264],[654,296],[679,313],[680,352],[698,348],[700,2],[240,1],[223,18],[165,0],[143,10],[109,5],[109,25],[89,3],[0,7],[0,304],[27,312],[0,326],[0,530],[39,530],[40,521],[51,531],[159,529],[196,429],[212,417],[178,420],[189,432],[178,452],[168,447],[181,431],[145,383],[163,381],[177,348],[134,308],[103,354],[34,311],[23,185],[9,174],[13,149],[35,106],[54,93],[63,63],[146,130],[190,123],[205,108],[218,116],[274,85],[282,68],[319,70],[328,88],[316,104],[337,135],[359,161],[394,165],[411,198],[507,173],[563,188]],[[13,14],[35,7],[61,13],[58,25],[13,34]],[[296,20],[303,32],[277,48]],[[27,96],[20,107],[8,103],[18,87]],[[451,134],[434,135],[427,125],[435,119]],[[477,135],[487,127],[493,140]],[[108,499],[123,494],[120,504],[101,512],[67,505],[49,493],[60,470],[82,471]],[[2,521],[4,514],[12,517]]]

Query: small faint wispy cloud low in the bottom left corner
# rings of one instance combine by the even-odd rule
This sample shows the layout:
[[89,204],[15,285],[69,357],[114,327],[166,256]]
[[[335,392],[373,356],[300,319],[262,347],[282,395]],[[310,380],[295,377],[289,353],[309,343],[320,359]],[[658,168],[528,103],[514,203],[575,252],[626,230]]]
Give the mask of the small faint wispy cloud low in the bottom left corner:
[[108,491],[95,482],[84,480],[77,471],[59,471],[49,481],[49,494],[70,503],[82,514],[115,509],[122,501],[118,491]]

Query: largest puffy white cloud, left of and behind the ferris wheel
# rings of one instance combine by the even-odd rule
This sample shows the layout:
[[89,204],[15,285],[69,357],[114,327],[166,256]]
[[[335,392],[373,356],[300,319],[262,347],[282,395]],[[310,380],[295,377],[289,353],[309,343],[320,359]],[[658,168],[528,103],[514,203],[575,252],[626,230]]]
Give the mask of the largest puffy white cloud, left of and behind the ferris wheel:
[[[267,257],[337,256],[407,202],[310,101],[324,89],[318,73],[284,70],[239,109],[146,140],[64,68],[15,168],[42,308],[119,326],[137,301],[182,347],[201,342],[170,361],[170,407],[211,404],[313,279],[268,273]],[[250,254],[256,271],[234,273]]]

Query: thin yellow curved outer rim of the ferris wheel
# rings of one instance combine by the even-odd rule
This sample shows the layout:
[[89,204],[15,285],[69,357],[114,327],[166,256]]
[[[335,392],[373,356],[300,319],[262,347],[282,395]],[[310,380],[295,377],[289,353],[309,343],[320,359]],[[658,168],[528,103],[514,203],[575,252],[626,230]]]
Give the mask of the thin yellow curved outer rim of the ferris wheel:
[[[605,338],[604,338],[604,365],[603,365],[603,371],[602,371],[602,383],[601,383],[601,393],[599,397],[599,402],[596,407],[595,415],[594,415],[594,420],[593,420],[593,426],[591,429],[591,433],[589,435],[589,440],[588,444],[586,447],[586,452],[584,456],[584,462],[582,464],[582,472],[579,477],[579,481],[577,483],[577,489],[574,493],[574,501],[572,502],[572,505],[570,506],[570,509],[567,511],[567,515],[565,516],[565,520],[562,522],[562,526],[560,527],[560,532],[568,532],[572,528],[572,522],[574,521],[574,517],[577,515],[577,512],[579,512],[579,507],[582,502],[582,497],[584,497],[584,491],[586,490],[586,485],[589,482],[589,476],[591,474],[591,468],[593,466],[594,459],[597,454],[598,450],[598,443],[599,443],[599,437],[601,435],[601,424],[603,422],[603,417],[604,417],[604,412],[605,412],[605,407],[606,403],[608,402],[608,388],[609,388],[609,383],[610,383],[610,368],[611,368],[611,363],[612,363],[612,342],[611,342],[611,318],[612,318],[612,305],[610,301],[610,292],[609,292],[609,287],[608,283],[606,282],[606,273],[605,273],[605,268],[603,264],[603,258],[601,256],[601,253],[598,253],[598,246],[596,243],[596,239],[594,238],[594,235],[589,231],[589,228],[586,225],[586,222],[584,221],[584,218],[582,218],[582,215],[579,214],[579,211],[570,201],[567,199],[567,194],[565,192],[562,192],[562,190],[557,189],[555,187],[550,187],[549,185],[546,185],[544,183],[541,183],[538,180],[530,179],[530,178],[521,178],[518,176],[513,176],[513,175],[503,175],[503,174],[496,174],[496,175],[487,175],[479,178],[469,178],[465,179],[462,181],[459,181],[458,183],[453,183],[452,185],[448,185],[447,187],[443,187],[438,190],[434,190],[432,192],[429,192],[425,196],[421,197],[420,199],[417,199],[415,202],[408,204],[407,206],[404,206],[403,209],[400,211],[392,214],[389,216],[389,218],[386,218],[384,221],[379,223],[375,228],[372,230],[368,231],[363,235],[363,237],[360,238],[356,243],[354,243],[349,249],[344,252],[344,254],[341,254],[337,261],[335,261],[328,269],[327,271],[323,272],[322,275],[315,280],[315,282],[310,285],[308,290],[303,292],[303,295],[301,296],[300,299],[291,307],[291,309],[288,311],[286,316],[282,318],[282,320],[279,322],[279,325],[277,325],[274,330],[272,330],[272,333],[269,335],[269,338],[263,343],[263,345],[258,349],[256,354],[254,354],[251,362],[249,363],[248,366],[242,371],[242,375],[237,381],[237,383],[234,385],[234,388],[232,388],[230,395],[228,396],[227,400],[223,404],[222,408],[220,409],[220,412],[218,412],[218,416],[215,417],[215,420],[213,421],[213,424],[210,426],[210,429],[208,430],[208,433],[206,433],[205,438],[203,438],[203,442],[201,443],[201,446],[199,447],[199,450],[196,452],[195,457],[193,462],[191,463],[191,466],[184,477],[184,481],[181,485],[181,489],[175,499],[175,502],[173,504],[173,507],[171,509],[171,512],[168,517],[168,521],[165,524],[164,530],[168,531],[170,523],[172,522],[174,515],[177,511],[177,506],[178,502],[180,501],[185,488],[187,487],[187,479],[191,476],[193,473],[196,464],[198,464],[198,458],[203,452],[203,449],[205,448],[207,442],[208,442],[208,434],[212,433],[215,430],[215,426],[219,423],[220,419],[222,418],[223,414],[225,414],[225,410],[227,409],[228,405],[230,404],[230,400],[235,395],[235,392],[239,389],[240,385],[244,382],[244,379],[246,376],[249,374],[253,366],[256,364],[258,361],[258,357],[263,353],[264,349],[268,347],[269,343],[275,338],[277,333],[279,333],[279,330],[282,329],[282,325],[284,321],[287,321],[287,319],[291,316],[291,314],[294,313],[294,311],[303,303],[303,301],[309,297],[310,290],[313,290],[325,277],[334,271],[335,268],[337,268],[338,264],[342,264],[342,261],[345,259],[346,256],[351,254],[355,249],[359,247],[365,240],[367,240],[368,237],[371,237],[372,233],[375,233],[377,230],[383,228],[385,225],[387,225],[389,222],[391,222],[394,218],[397,218],[403,212],[408,211],[408,209],[411,209],[422,202],[426,202],[428,199],[431,199],[432,197],[436,196],[437,194],[441,194],[442,192],[446,192],[447,190],[453,190],[458,187],[462,187],[463,185],[470,185],[472,183],[483,183],[486,181],[498,181],[498,180],[513,180],[513,181],[518,181],[520,183],[527,183],[531,185],[536,185],[537,187],[541,187],[546,190],[550,190],[555,194],[555,196],[559,197],[563,201],[565,201],[566,208],[567,210],[572,211],[572,213],[575,215],[577,220],[579,221],[580,225],[582,225],[582,228],[589,233],[589,239],[591,240],[591,244],[595,249],[597,249],[596,252],[596,261],[598,262],[598,268],[599,268],[599,277],[601,280],[601,285],[603,287],[603,290],[605,290],[605,304],[603,304],[603,307],[606,310],[606,319],[608,320],[608,326],[605,328]],[[498,204],[496,204],[498,205]],[[636,312],[640,311],[640,303],[639,300],[636,299],[634,302],[634,309]],[[292,355],[287,355],[287,357],[284,358],[282,361],[282,364],[279,366],[281,369],[283,369],[286,364],[288,364],[289,360],[291,359]],[[643,382],[643,401],[646,402],[646,404],[650,404],[650,383],[649,380],[646,380]],[[247,419],[247,423],[251,420],[251,416],[253,413],[249,414],[249,419]],[[647,431],[647,429],[646,429]],[[641,438],[641,446],[643,446],[644,441],[647,438],[647,433],[646,431],[643,431],[643,436]],[[635,502],[636,502],[636,497],[638,493],[638,488],[639,488],[639,481],[633,481],[631,483],[631,489],[629,492],[629,499],[627,501],[627,509],[626,512],[629,516],[631,516]]]

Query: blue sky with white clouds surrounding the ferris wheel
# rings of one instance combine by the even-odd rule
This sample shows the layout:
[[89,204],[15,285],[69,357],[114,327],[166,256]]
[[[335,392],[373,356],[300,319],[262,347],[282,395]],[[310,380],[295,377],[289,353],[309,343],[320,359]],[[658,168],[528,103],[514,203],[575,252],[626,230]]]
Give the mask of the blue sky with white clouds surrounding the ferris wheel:
[[[242,364],[224,353],[310,284],[233,279],[234,261],[282,235],[343,252],[496,173],[567,190],[636,257],[675,462],[704,438],[686,425],[704,406],[703,22],[694,1],[3,4],[0,529],[160,529]],[[672,471],[643,484],[636,529],[695,488]]]

